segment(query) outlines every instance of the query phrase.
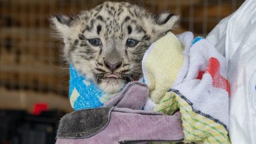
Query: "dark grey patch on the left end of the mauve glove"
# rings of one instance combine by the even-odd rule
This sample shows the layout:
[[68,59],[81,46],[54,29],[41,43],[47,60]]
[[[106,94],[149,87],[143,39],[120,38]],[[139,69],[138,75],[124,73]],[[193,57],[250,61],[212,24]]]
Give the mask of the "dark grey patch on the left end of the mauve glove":
[[86,138],[95,135],[109,123],[111,107],[74,111],[61,118],[57,138]]

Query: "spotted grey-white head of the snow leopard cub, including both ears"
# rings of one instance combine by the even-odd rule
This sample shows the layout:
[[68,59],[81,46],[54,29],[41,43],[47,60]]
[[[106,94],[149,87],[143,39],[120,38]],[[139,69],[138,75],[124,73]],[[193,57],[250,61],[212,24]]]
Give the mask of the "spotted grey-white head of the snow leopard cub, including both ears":
[[153,15],[137,5],[117,2],[105,2],[72,17],[51,17],[65,43],[67,62],[107,93],[141,77],[145,51],[177,20],[172,13]]

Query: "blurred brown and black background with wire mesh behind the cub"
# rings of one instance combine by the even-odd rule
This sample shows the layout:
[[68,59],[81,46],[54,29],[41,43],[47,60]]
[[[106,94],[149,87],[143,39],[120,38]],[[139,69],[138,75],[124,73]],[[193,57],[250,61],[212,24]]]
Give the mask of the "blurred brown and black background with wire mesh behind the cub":
[[[68,65],[60,53],[63,43],[51,37],[49,17],[75,14],[103,2],[0,0],[0,144],[54,143],[59,118],[72,109],[68,99]],[[193,31],[206,36],[243,0],[129,2],[152,13],[170,10],[181,15],[181,27],[174,33]]]

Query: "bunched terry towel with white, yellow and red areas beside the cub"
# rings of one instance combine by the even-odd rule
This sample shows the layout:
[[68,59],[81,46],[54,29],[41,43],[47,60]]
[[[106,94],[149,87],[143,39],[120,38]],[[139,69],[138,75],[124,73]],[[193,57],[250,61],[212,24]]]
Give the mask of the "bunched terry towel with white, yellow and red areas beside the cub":
[[226,60],[209,41],[167,33],[145,53],[142,67],[153,110],[179,110],[185,142],[230,143]]

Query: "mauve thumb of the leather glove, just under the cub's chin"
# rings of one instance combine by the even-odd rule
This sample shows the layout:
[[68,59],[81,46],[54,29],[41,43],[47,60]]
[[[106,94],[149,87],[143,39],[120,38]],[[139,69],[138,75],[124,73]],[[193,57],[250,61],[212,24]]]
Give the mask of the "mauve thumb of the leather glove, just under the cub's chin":
[[133,81],[128,83],[121,94],[107,101],[103,107],[125,107],[142,109],[149,96],[149,88],[144,83]]

